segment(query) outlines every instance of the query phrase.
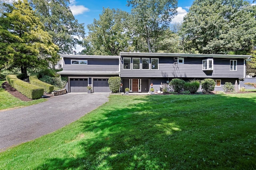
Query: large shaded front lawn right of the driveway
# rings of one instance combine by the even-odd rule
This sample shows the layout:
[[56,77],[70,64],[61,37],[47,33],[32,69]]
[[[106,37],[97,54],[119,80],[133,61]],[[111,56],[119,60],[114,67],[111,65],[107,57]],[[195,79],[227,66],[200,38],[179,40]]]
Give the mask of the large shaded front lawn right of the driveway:
[[110,95],[58,131],[0,153],[0,169],[256,169],[256,94]]

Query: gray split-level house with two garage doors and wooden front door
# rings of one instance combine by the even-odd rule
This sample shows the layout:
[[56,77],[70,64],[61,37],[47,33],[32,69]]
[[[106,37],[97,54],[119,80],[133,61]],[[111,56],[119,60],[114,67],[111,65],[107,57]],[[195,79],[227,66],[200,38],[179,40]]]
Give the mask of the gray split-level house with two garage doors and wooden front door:
[[131,53],[120,56],[61,55],[62,76],[68,76],[68,92],[86,92],[92,86],[93,92],[110,92],[108,78],[120,76],[123,88],[130,92],[148,92],[150,85],[155,91],[161,83],[172,78],[185,81],[212,78],[215,90],[223,90],[225,82],[234,84],[246,74],[246,60],[250,55],[206,55],[178,53]]

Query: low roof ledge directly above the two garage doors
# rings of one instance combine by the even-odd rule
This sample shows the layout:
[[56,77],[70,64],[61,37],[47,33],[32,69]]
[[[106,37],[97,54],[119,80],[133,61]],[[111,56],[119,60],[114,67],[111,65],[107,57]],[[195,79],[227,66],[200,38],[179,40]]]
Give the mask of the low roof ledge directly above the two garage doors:
[[57,74],[74,74],[74,75],[119,75],[119,71],[59,71]]

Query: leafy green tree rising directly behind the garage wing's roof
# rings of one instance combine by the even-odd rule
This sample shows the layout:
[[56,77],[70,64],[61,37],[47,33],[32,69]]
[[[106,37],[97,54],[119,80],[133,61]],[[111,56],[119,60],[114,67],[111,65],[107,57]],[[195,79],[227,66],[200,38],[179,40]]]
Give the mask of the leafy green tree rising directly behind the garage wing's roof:
[[128,46],[128,15],[119,9],[103,8],[100,19],[87,25],[89,32],[84,47],[93,49],[96,55],[119,55]]

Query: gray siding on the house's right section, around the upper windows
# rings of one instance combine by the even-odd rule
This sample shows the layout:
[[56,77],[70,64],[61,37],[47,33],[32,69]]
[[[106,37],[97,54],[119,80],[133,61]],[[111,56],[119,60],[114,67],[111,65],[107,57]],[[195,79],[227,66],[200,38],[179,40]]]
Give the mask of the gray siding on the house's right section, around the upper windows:
[[[122,56],[126,57],[126,56]],[[137,58],[137,57],[134,57]],[[138,57],[149,58],[149,57]],[[120,76],[134,78],[242,78],[243,59],[237,60],[237,71],[230,71],[230,59],[214,58],[213,71],[202,70],[206,58],[184,58],[184,64],[175,64],[173,57],[159,57],[158,70],[126,70],[120,62]],[[142,67],[142,64],[140,68]]]

